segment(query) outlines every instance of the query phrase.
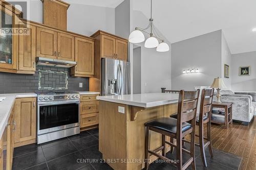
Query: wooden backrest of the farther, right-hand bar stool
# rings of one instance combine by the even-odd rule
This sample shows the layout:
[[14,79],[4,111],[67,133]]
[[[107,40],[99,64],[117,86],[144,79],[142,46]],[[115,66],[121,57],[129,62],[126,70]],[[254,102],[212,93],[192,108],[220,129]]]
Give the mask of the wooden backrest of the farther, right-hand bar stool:
[[200,103],[200,114],[199,123],[203,122],[203,117],[207,113],[207,117],[211,118],[212,110],[212,99],[214,98],[214,88],[203,89],[201,93],[201,103]]

